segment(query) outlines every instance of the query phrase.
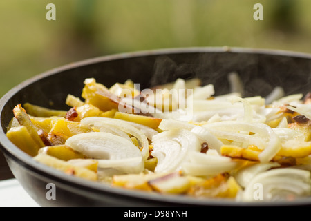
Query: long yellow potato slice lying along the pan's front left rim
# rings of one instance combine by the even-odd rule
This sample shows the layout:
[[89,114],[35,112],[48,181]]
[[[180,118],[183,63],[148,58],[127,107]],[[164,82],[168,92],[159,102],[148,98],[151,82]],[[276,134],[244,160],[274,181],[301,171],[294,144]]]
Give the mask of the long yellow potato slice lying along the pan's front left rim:
[[56,157],[52,157],[44,153],[39,153],[33,159],[42,164],[46,164],[47,166],[51,166],[59,171],[64,171],[64,173],[67,173],[68,175],[81,177],[86,180],[97,181],[97,173],[90,169],[86,169],[83,166],[70,164],[69,162],[59,160]]

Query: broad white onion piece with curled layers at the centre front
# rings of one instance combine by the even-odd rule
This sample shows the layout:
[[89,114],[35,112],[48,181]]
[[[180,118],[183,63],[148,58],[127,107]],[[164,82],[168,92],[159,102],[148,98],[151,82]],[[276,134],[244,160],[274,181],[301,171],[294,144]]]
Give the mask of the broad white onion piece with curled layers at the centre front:
[[198,137],[185,129],[163,131],[152,138],[153,151],[158,164],[155,172],[173,172],[187,162],[190,151],[200,151],[201,145]]

